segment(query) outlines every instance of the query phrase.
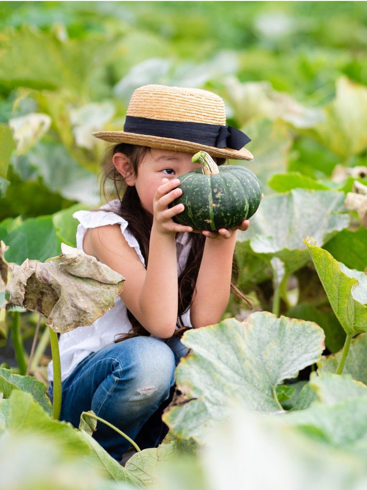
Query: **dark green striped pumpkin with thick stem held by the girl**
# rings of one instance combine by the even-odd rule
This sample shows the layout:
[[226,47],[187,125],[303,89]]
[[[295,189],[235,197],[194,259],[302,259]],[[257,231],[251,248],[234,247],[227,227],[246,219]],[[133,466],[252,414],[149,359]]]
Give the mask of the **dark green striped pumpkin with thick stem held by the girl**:
[[238,226],[256,212],[261,187],[251,170],[241,165],[218,167],[206,151],[195,153],[191,160],[203,168],[178,177],[182,194],[168,207],[182,203],[184,211],[173,221],[196,230],[217,231]]

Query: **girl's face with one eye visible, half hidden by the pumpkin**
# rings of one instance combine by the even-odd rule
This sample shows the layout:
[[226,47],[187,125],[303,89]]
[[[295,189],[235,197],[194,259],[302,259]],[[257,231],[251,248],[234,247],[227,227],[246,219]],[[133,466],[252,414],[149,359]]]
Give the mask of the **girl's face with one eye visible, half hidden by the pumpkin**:
[[[200,168],[197,163],[191,161],[194,154],[151,148],[151,151],[145,154],[139,164],[138,176],[125,179],[128,185],[136,186],[143,208],[152,216],[153,198],[158,187],[162,185],[162,179],[167,178],[168,180],[173,180],[186,172]],[[116,155],[123,154],[115,153],[114,163]],[[117,168],[117,170],[119,169]],[[123,174],[123,172],[120,173]]]

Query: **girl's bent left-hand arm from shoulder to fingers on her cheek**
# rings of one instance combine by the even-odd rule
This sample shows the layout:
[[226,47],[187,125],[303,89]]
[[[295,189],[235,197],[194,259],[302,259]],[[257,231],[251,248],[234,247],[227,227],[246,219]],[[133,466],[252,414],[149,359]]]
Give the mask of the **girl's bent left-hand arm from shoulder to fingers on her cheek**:
[[[182,212],[179,205],[168,208],[178,194],[173,192],[180,180],[163,179],[154,197],[153,225],[147,268],[121,234],[120,225],[110,224],[88,229],[83,246],[91,255],[122,274],[125,283],[120,297],[141,325],[152,335],[173,335],[178,310],[177,253],[175,235],[192,231],[175,223],[172,217]],[[87,237],[88,235],[88,237]]]

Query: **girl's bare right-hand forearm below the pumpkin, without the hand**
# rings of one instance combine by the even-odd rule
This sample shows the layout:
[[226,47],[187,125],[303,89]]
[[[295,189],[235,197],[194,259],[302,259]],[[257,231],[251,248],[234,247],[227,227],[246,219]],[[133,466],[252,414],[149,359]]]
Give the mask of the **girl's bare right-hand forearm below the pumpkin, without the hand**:
[[203,258],[190,308],[194,328],[218,323],[226,310],[237,230],[229,238],[206,238]]

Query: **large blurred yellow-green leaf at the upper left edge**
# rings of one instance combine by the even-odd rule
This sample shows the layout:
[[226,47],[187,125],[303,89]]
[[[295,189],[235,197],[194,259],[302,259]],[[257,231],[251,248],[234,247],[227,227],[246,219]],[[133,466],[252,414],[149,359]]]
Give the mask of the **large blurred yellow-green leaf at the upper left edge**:
[[81,94],[94,62],[100,63],[99,56],[109,52],[113,41],[98,35],[61,41],[34,25],[6,28],[0,42],[0,83],[38,90],[68,87]]

